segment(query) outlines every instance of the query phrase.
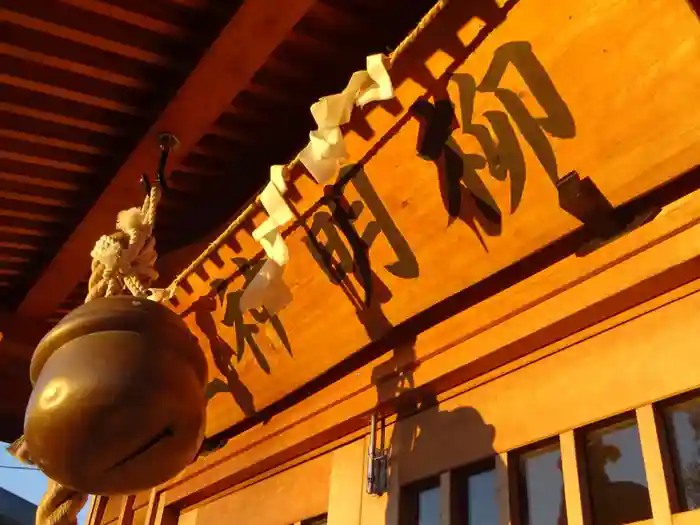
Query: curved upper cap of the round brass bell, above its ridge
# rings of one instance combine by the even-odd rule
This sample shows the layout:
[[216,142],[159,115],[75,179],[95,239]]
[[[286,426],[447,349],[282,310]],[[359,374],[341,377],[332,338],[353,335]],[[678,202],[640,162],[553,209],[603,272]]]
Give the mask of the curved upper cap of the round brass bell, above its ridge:
[[202,388],[206,385],[206,358],[182,319],[155,301],[120,295],[95,299],[79,306],[39,341],[29,366],[32,386],[36,385],[49,358],[65,343],[89,333],[106,331],[152,334],[162,341],[163,347],[177,350],[193,367]]

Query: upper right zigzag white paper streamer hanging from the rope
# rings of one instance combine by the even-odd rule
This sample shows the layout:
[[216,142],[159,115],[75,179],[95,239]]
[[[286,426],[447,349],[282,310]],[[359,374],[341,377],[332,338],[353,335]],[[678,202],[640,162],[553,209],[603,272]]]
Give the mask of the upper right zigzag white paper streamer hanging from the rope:
[[300,153],[299,160],[317,183],[331,180],[347,160],[340,126],[350,122],[353,107],[393,96],[386,57],[372,55],[367,57],[367,70],[353,73],[341,93],[323,97],[311,106],[318,129],[309,134],[309,144]]

